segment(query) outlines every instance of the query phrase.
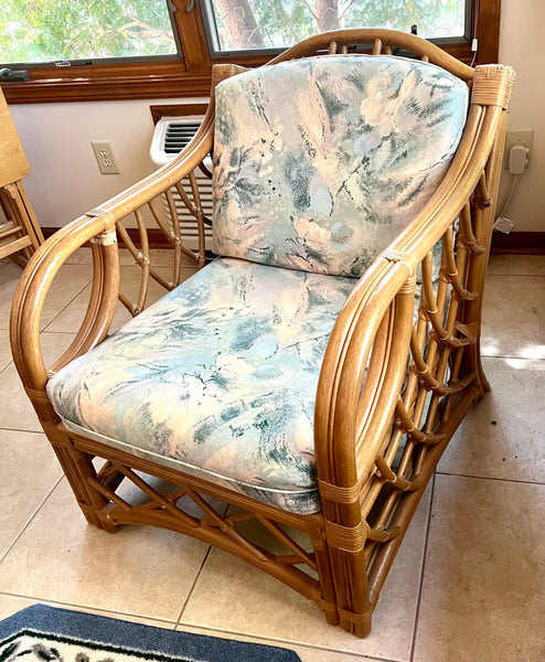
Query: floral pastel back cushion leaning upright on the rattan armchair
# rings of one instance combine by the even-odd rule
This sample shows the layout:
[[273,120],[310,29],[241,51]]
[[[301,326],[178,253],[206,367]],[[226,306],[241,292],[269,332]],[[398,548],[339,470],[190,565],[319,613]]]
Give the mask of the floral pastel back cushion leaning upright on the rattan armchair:
[[321,56],[216,88],[218,255],[360,277],[426,204],[458,147],[467,85],[392,56]]

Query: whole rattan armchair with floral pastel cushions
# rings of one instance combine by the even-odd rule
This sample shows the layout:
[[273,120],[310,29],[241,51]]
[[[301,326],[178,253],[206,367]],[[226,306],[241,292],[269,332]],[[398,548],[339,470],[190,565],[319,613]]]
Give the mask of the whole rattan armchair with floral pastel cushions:
[[[397,57],[398,50],[415,58]],[[365,84],[353,66],[373,70],[361,74]],[[299,96],[279,94],[278,119],[267,85],[296,85],[299,75],[307,76]],[[413,35],[352,30],[313,36],[253,72],[216,65],[213,78],[205,119],[180,156],[60,229],[31,259],[12,309],[15,364],[88,522],[107,532],[125,523],[161,526],[217,545],[306,596],[329,623],[365,637],[426,484],[489,389],[479,354],[481,306],[513,72],[473,70]],[[449,119],[428,136],[415,118],[429,119],[431,104],[442,121],[440,95],[449,90],[467,105],[458,137],[447,140],[451,153],[435,170],[426,150],[450,131]],[[346,122],[351,138],[336,138]],[[435,131],[437,124],[426,126]],[[254,135],[265,125],[266,135]],[[290,149],[307,160],[293,166],[287,142],[301,137]],[[237,143],[247,138],[252,145]],[[413,167],[410,150],[423,145],[426,154]],[[338,150],[333,161],[330,147]],[[214,248],[223,257],[206,264],[211,221],[195,171],[207,172],[210,153]],[[272,171],[281,159],[280,181]],[[318,161],[327,163],[322,179]],[[372,161],[378,170],[368,174]],[[340,163],[351,169],[341,184]],[[288,193],[278,192],[278,181]],[[382,181],[391,193],[373,206],[365,196],[378,194]],[[161,212],[164,197],[175,218],[173,191],[195,217],[197,250]],[[279,214],[288,216],[284,254],[282,237],[271,247],[281,234]],[[139,246],[126,228],[135,217]],[[153,224],[172,248],[171,281],[151,264]],[[275,237],[264,238],[270,227]],[[118,237],[141,267],[137,301],[119,285]],[[352,244],[342,263],[350,237],[355,254]],[[71,348],[47,369],[43,302],[63,261],[87,243],[88,310]],[[178,287],[183,258],[202,268]],[[172,292],[140,314],[150,278]],[[136,319],[108,337],[118,299]],[[264,335],[269,324],[276,335]],[[152,339],[141,349],[140,335]],[[223,408],[214,410],[218,398]],[[180,407],[186,408],[175,418]],[[99,469],[95,458],[106,460]],[[146,502],[126,500],[127,481]],[[267,528],[277,548],[246,537],[249,521]]]

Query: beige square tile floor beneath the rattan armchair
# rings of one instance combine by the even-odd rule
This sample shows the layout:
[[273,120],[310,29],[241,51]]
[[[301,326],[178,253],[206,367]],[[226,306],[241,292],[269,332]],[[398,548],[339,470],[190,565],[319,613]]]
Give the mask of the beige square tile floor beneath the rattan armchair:
[[[88,261],[77,255],[53,287],[49,360],[85,311]],[[128,255],[124,269],[136,269]],[[545,257],[491,259],[482,351],[493,391],[442,458],[365,640],[201,542],[85,523],[11,362],[19,276],[0,261],[0,618],[41,601],[287,645],[306,662],[545,660]]]

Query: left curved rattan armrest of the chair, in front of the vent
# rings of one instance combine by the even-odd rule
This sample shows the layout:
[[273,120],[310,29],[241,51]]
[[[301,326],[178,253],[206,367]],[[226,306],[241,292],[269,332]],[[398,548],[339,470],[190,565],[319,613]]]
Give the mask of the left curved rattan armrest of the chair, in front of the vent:
[[[147,232],[142,220],[142,207],[152,205],[154,199],[165,192],[169,195],[170,189],[184,178],[189,178],[191,186],[194,188],[193,171],[209,156],[212,143],[213,109],[209,109],[200,130],[171,162],[61,228],[33,255],[13,299],[10,329],[15,366],[35,406],[40,403],[40,406],[51,409],[44,397],[49,372],[40,346],[40,319],[47,291],[61,266],[77,248],[87,242],[90,243],[94,273],[87,313],[75,340],[52,366],[52,371],[60,370],[76,356],[87,352],[108,333],[119,295],[117,233],[122,237],[127,236],[122,226],[124,218],[135,214],[142,237]],[[157,214],[154,217],[160,223]],[[197,221],[202,224],[202,217]],[[161,229],[165,232],[165,228],[161,227]],[[180,255],[186,253],[192,255],[201,266],[204,263],[204,231],[202,250],[199,254],[192,254],[182,245],[179,236],[172,236],[177,232],[179,231],[174,227],[168,238],[178,248],[178,263],[180,263]],[[145,263],[141,265],[142,270],[146,271],[147,277],[150,275],[149,261],[146,258],[142,261]],[[54,418],[52,409],[49,410],[45,419]]]

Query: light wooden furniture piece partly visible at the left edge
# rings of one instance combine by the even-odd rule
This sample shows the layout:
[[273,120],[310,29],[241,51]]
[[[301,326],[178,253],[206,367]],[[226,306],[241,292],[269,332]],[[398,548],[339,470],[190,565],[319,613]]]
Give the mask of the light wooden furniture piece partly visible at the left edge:
[[22,180],[30,174],[23,146],[0,89],[0,258],[21,266],[43,244]]

